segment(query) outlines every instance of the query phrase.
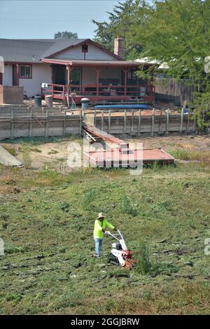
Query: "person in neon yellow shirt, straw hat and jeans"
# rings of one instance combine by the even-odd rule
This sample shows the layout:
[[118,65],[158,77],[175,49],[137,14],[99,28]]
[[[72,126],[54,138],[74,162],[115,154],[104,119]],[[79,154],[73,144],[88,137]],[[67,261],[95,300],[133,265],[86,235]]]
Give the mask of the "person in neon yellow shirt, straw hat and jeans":
[[117,230],[111,223],[104,220],[104,215],[99,213],[98,218],[94,222],[94,243],[95,243],[95,253],[97,258],[100,257],[100,252],[103,244],[105,228],[111,228],[111,230]]

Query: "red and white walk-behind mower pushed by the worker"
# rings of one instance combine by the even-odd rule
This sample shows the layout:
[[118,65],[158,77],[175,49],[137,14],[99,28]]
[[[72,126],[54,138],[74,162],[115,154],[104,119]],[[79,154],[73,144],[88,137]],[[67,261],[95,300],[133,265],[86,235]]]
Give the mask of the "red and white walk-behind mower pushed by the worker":
[[127,269],[130,269],[135,263],[137,263],[137,260],[132,258],[132,253],[127,250],[125,240],[120,230],[117,230],[117,233],[114,235],[112,235],[109,231],[106,231],[105,234],[110,235],[118,241],[111,244],[112,249],[111,253],[109,254],[109,262],[111,264],[120,265]]

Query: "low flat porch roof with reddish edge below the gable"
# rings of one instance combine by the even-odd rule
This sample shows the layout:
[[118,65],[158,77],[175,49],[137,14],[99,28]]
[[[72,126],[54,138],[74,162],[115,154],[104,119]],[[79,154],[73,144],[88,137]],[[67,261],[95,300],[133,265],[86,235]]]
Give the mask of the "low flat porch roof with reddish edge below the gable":
[[120,67],[138,67],[138,62],[123,60],[92,60],[92,59],[55,59],[43,58],[44,63],[62,64],[66,66],[120,66]]

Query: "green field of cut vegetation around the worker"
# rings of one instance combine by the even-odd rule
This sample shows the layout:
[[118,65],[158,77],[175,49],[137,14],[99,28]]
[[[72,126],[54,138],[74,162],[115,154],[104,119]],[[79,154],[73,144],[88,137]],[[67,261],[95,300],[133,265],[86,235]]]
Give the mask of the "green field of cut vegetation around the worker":
[[[141,176],[0,172],[1,314],[209,314],[209,162]],[[125,235],[134,269],[109,264],[110,237],[93,257],[100,211]]]

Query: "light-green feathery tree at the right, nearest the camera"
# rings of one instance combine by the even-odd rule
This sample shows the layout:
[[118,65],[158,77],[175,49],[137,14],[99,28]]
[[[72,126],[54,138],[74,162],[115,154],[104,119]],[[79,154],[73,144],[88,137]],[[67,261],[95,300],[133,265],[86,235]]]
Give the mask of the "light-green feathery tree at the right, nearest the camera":
[[207,90],[204,59],[210,55],[210,1],[153,1],[135,15],[139,24],[134,22],[127,31],[127,43],[141,44],[141,57],[167,62],[169,75],[188,77],[198,91]]

